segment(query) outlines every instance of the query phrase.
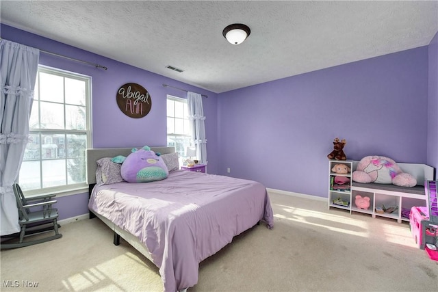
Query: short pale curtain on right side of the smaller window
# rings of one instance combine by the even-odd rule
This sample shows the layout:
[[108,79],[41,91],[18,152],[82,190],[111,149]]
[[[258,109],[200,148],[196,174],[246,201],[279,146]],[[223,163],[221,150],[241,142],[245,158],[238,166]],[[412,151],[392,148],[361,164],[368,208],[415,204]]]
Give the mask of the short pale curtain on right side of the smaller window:
[[204,109],[201,94],[187,92],[187,103],[196,157],[200,163],[207,163],[207,139],[205,139]]

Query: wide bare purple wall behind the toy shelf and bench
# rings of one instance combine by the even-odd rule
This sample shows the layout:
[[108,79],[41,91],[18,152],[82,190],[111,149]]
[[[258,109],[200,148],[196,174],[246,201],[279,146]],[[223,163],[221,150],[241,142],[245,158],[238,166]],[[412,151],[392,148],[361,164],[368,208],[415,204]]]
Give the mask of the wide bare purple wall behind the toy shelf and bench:
[[426,163],[427,103],[428,47],[220,94],[219,174],[326,197],[335,137],[348,159]]

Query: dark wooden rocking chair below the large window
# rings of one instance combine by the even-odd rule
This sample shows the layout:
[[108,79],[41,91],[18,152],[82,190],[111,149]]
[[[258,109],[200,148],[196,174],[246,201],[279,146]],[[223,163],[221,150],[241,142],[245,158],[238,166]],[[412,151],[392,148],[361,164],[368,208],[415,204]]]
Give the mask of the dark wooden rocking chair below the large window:
[[[16,198],[16,206],[18,208],[18,223],[21,226],[21,231],[13,235],[2,236],[1,239],[11,238],[11,241],[14,237],[19,237],[19,239],[18,242],[14,243],[9,243],[9,240],[2,241],[0,245],[1,249],[23,248],[25,246],[61,238],[62,234],[58,232],[60,226],[57,224],[57,209],[52,208],[52,204],[57,202],[53,200],[55,195],[25,198],[18,184],[14,184],[13,189]],[[34,211],[34,209],[38,209],[38,211]],[[55,235],[23,241],[25,237],[30,235],[38,235],[51,231],[54,231]]]

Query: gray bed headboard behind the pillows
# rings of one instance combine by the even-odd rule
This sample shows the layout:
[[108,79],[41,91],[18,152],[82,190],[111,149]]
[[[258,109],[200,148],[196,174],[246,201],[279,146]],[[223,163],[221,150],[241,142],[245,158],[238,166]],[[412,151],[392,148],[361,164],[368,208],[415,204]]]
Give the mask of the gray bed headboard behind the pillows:
[[[128,156],[131,153],[132,148],[142,148],[142,147],[131,147],[131,148],[90,148],[86,151],[87,157],[87,183],[91,185],[96,183],[96,161],[103,157],[116,157],[117,155]],[[175,153],[175,147],[159,146],[151,147],[154,152],[159,152],[161,154]]]

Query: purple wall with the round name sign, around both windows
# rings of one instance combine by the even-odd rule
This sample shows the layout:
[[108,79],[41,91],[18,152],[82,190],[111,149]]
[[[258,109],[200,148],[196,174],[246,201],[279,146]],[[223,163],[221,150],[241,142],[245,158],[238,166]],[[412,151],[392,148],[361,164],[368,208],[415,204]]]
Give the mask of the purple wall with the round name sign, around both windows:
[[[92,77],[92,142],[94,148],[166,145],[166,94],[185,98],[185,92],[164,88],[163,83],[208,95],[208,98],[203,98],[204,113],[207,116],[205,128],[208,140],[208,170],[210,173],[216,172],[216,161],[218,161],[215,156],[218,144],[216,139],[217,94],[35,34],[29,34],[8,25],[1,25],[1,38],[107,66],[108,70],[102,70],[68,59],[40,54],[40,64],[42,65]],[[151,94],[152,108],[144,118],[135,119],[125,116],[116,103],[118,88],[130,82],[142,85]],[[88,213],[87,194],[66,196],[57,200],[60,219]]]

